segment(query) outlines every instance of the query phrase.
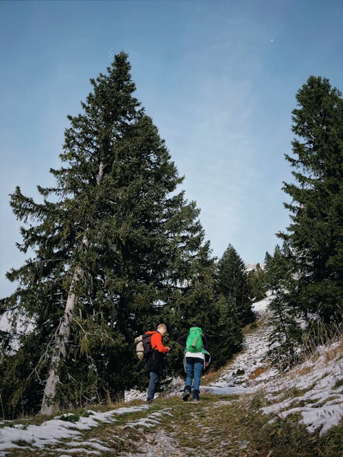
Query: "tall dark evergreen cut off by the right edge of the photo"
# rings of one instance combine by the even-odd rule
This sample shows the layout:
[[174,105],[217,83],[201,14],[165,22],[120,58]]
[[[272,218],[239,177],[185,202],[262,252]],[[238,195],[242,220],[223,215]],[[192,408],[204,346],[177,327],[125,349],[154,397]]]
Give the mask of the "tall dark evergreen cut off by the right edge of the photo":
[[324,322],[342,321],[343,100],[328,79],[309,77],[296,94],[295,182],[284,183],[292,223],[279,234],[292,252],[296,287],[289,304]]

